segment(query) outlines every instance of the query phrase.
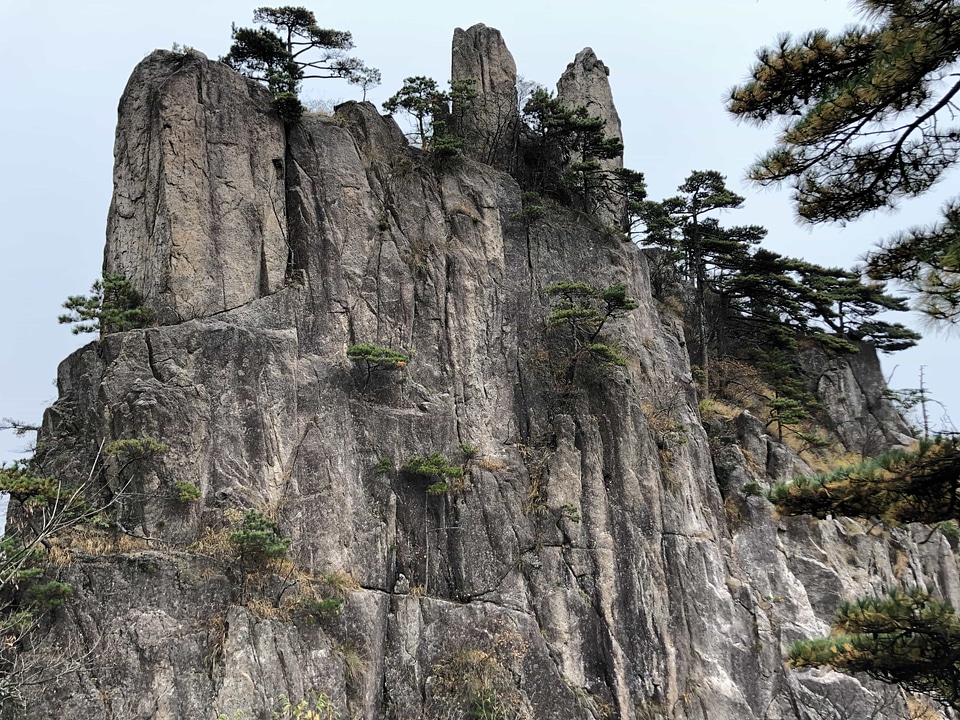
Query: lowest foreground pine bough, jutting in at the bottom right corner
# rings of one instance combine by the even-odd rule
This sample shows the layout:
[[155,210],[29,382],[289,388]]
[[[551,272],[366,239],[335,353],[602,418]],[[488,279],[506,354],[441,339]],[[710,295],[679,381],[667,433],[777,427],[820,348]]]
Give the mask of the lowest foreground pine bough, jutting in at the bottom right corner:
[[844,603],[833,634],[794,643],[789,664],[866,673],[960,710],[960,621],[920,589]]

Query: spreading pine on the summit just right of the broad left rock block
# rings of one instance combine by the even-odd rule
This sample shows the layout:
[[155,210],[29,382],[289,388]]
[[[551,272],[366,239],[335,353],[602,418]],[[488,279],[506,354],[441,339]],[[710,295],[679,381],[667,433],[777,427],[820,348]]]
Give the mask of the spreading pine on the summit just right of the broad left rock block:
[[379,70],[347,54],[353,48],[350,33],[319,27],[306,8],[261,7],[254,11],[253,21],[260,27],[233,26],[233,44],[221,61],[266,84],[277,111],[288,122],[303,114],[298,93],[304,80],[345,78],[363,88],[364,97],[380,82]]

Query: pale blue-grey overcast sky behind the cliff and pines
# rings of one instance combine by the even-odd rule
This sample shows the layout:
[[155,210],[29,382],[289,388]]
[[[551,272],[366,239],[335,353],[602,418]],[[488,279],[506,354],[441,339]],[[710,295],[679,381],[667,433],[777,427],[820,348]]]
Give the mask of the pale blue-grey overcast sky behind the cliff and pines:
[[[230,24],[250,24],[253,5],[236,0],[2,0],[7,68],[0,113],[4,147],[0,208],[4,313],[0,416],[39,422],[56,399],[57,364],[90,340],[57,324],[67,295],[85,293],[101,269],[111,194],[116,107],[133,67],[155,48],[189,45],[223,55]],[[383,72],[368,99],[379,104],[404,77],[449,78],[455,27],[501,30],[521,75],[549,87],[583,47],[610,67],[623,121],[625,163],[645,173],[650,196],[674,193],[691,170],[719,170],[747,197],[727,221],[769,228],[766,246],[826,265],[849,266],[876,240],[932,218],[939,198],[845,228],[798,226],[786,190],[743,182],[772,132],[737,125],[726,91],[754,51],[785,31],[839,30],[855,21],[844,0],[551,0],[336,2],[308,6],[321,25],[353,33],[355,54]],[[357,88],[315,81],[308,98],[359,99]],[[955,190],[956,175],[939,188]],[[915,324],[914,319],[901,321]],[[920,365],[934,395],[960,413],[955,368],[960,339],[931,337],[884,359],[892,386],[915,387]],[[26,442],[0,434],[0,461]]]

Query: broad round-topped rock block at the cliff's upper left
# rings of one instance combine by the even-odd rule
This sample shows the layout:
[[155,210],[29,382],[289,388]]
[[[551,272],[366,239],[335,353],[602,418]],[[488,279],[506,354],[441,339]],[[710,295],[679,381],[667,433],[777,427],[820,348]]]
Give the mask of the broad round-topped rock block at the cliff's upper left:
[[104,272],[158,322],[209,317],[283,286],[283,124],[270,93],[197,53],[158,50],[120,101]]

